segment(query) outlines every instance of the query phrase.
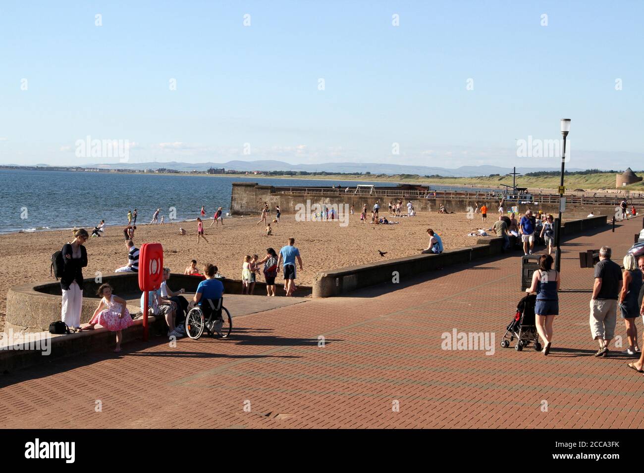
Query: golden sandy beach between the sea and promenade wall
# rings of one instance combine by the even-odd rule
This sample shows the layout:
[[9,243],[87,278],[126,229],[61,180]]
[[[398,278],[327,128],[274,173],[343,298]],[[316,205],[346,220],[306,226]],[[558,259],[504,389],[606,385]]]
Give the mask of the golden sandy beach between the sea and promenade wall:
[[[384,212],[386,214],[386,210]],[[381,212],[381,216],[384,215]],[[585,216],[585,215],[584,215]],[[272,220],[273,216],[270,216]],[[577,217],[578,218],[578,217]],[[488,228],[497,216],[488,214]],[[336,221],[296,221],[294,215],[282,214],[279,223],[272,223],[274,234],[265,236],[263,225],[256,225],[259,217],[234,217],[225,219],[222,225],[209,228],[212,219],[204,221],[208,243],[197,243],[196,222],[166,223],[164,225],[140,225],[135,234],[135,243],[158,242],[164,246],[164,265],[172,272],[182,273],[191,259],[202,263],[214,263],[220,272],[231,279],[241,279],[243,257],[258,254],[260,259],[266,248],[287,245],[294,237],[304,270],[298,271],[298,283],[312,284],[314,274],[320,270],[372,263],[418,254],[428,245],[427,228],[433,228],[442,237],[445,248],[470,246],[475,237],[466,234],[482,227],[480,216],[466,218],[466,214],[421,213],[412,218],[392,218],[398,225],[361,224],[359,213],[350,216],[346,227]],[[179,235],[179,227],[188,234]],[[96,272],[113,272],[127,264],[127,249],[122,234],[124,225],[112,225],[106,236],[92,237],[86,243],[89,264],[84,277],[94,277]],[[87,228],[91,232],[91,228]],[[53,252],[71,240],[71,230],[52,230],[33,233],[14,233],[0,236],[0,330],[3,329],[6,310],[6,293],[11,286],[29,282],[55,281],[50,276]],[[386,252],[384,257],[378,250]],[[279,280],[279,278],[278,278]],[[259,281],[263,281],[260,276]],[[173,289],[178,289],[172,286]],[[256,290],[256,293],[259,290]]]

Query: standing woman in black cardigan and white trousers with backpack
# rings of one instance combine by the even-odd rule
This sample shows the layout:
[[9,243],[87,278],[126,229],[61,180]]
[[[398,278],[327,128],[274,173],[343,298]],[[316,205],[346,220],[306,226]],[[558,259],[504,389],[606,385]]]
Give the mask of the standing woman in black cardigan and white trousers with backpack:
[[87,266],[83,246],[90,235],[84,228],[74,232],[74,239],[62,247],[62,313],[61,319],[72,331],[81,331],[82,268]]

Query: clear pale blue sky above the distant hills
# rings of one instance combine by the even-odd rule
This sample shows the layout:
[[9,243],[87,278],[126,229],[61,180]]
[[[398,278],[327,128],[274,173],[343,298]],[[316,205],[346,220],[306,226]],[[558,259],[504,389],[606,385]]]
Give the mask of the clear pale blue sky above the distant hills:
[[643,21],[641,1],[5,0],[0,163],[115,162],[75,156],[91,136],[130,162],[526,165],[516,139],[571,118],[572,167],[639,169]]

